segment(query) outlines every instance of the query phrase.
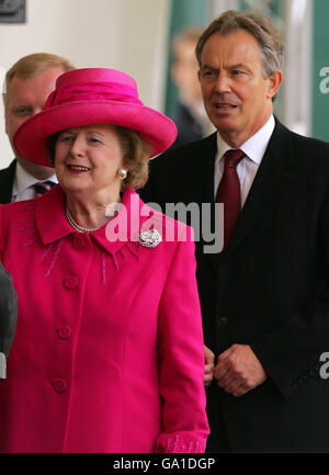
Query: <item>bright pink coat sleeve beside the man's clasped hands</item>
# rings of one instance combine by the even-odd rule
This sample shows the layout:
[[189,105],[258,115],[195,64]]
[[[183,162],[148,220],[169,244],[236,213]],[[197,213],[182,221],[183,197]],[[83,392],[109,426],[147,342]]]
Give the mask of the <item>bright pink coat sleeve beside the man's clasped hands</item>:
[[204,452],[204,347],[194,244],[179,242],[159,308],[162,427],[156,452]]

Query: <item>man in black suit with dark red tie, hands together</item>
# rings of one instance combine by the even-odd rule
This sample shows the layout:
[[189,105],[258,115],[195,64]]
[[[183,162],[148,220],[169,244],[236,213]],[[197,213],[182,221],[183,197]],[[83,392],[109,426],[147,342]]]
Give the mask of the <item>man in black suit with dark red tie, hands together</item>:
[[[329,144],[274,118],[282,43],[266,19],[225,12],[196,55],[217,133],[152,160],[140,194],[163,211],[179,202],[202,211],[208,450],[327,452]],[[219,203],[224,248],[212,253],[206,227]]]

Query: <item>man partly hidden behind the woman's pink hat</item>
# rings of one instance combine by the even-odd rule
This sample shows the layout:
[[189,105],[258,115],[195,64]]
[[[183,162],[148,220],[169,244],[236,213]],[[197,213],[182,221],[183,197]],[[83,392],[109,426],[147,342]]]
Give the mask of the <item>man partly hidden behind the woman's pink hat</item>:
[[19,155],[13,136],[26,118],[43,110],[58,76],[72,68],[60,56],[36,53],[19,59],[8,70],[3,93],[5,133],[15,158],[8,168],[0,170],[0,203],[34,197],[36,183],[36,190],[43,192],[49,184],[41,183],[57,182],[53,168],[32,163]]

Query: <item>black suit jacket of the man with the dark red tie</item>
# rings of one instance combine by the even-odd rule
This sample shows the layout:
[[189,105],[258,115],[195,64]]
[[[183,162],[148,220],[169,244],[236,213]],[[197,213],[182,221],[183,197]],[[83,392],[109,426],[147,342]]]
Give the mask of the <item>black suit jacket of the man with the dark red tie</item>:
[[[214,134],[156,158],[143,200],[213,203],[215,154]],[[216,355],[250,344],[268,374],[239,398],[207,389],[209,448],[225,431],[234,451],[329,451],[329,383],[319,375],[329,351],[329,144],[276,121],[222,262],[204,245],[205,344]]]

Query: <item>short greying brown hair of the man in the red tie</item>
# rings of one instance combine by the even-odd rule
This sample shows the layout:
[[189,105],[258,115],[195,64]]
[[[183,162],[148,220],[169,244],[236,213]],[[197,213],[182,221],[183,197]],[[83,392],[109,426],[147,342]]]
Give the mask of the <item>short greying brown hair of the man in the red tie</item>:
[[226,36],[237,30],[246,30],[258,44],[262,54],[263,77],[269,78],[275,70],[282,69],[283,43],[279,31],[273,23],[264,15],[257,12],[238,12],[228,10],[214,20],[201,35],[195,54],[200,67],[202,66],[201,55],[207,39],[219,33]]

